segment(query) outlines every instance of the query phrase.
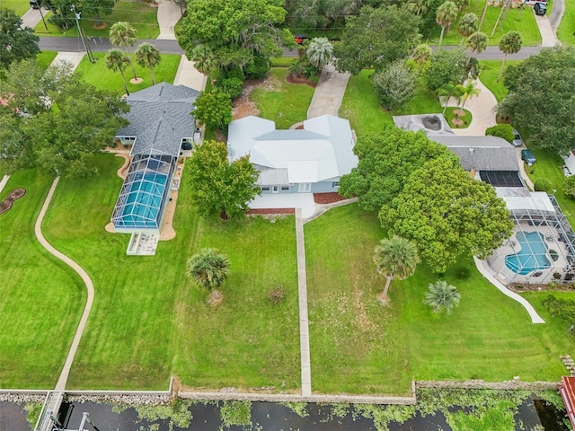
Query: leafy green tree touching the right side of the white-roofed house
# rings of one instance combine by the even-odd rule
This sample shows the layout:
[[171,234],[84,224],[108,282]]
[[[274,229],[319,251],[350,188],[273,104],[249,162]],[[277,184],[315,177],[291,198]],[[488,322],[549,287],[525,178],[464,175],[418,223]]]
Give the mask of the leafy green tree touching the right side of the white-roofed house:
[[436,157],[459,163],[445,145],[431,141],[424,132],[410,132],[389,126],[382,133],[359,136],[353,148],[358,166],[340,180],[340,194],[358,197],[359,207],[381,208],[401,190],[411,172]]

